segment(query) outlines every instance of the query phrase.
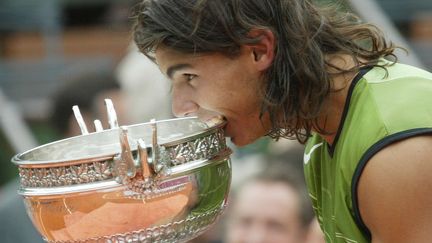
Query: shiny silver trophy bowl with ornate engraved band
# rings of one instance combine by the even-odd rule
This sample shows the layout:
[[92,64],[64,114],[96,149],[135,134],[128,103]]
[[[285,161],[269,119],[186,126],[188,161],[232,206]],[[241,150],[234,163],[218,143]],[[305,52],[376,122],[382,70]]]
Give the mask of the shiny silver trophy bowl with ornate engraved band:
[[82,129],[16,155],[18,193],[47,242],[185,242],[226,206],[223,126],[179,118]]

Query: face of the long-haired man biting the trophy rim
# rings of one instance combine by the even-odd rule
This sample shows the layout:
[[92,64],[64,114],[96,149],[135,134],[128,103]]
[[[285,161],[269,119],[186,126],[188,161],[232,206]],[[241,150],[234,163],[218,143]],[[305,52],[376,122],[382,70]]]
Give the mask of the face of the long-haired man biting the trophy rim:
[[222,54],[192,55],[166,47],[156,51],[161,71],[172,80],[176,116],[201,120],[223,116],[225,135],[238,146],[252,143],[270,128],[268,115],[259,118],[264,83],[253,53],[243,48],[236,58]]

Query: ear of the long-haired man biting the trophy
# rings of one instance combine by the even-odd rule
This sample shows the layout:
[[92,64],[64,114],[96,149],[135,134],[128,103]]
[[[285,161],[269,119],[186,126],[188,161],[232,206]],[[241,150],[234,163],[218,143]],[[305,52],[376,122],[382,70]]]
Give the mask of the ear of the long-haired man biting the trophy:
[[259,39],[258,43],[249,45],[249,48],[254,64],[259,71],[264,71],[274,59],[275,36],[270,30],[256,29],[249,32],[249,37]]

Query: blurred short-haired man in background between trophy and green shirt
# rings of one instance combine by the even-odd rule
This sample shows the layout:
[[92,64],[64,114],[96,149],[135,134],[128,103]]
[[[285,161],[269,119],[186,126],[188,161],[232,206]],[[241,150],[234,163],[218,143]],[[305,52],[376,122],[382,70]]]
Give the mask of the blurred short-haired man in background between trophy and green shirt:
[[226,242],[312,243],[312,207],[298,172],[286,164],[270,166],[236,188],[227,213]]

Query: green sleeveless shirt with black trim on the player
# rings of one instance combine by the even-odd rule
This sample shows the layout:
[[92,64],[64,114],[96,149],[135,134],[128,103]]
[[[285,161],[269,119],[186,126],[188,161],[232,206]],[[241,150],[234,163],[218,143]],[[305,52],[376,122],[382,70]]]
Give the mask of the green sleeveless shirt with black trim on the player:
[[306,183],[326,242],[370,242],[357,202],[368,160],[385,146],[432,133],[432,74],[403,64],[361,69],[348,92],[332,146],[307,142]]

